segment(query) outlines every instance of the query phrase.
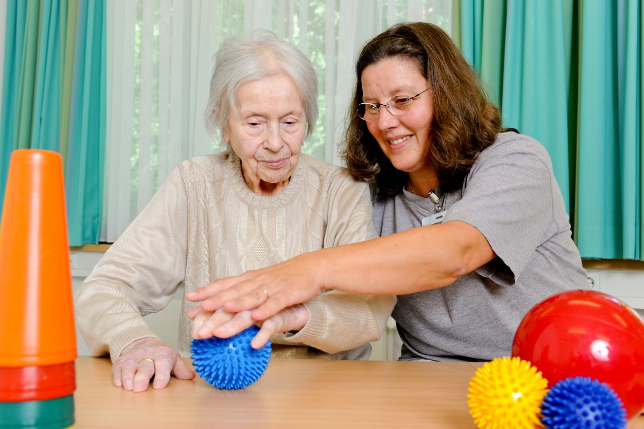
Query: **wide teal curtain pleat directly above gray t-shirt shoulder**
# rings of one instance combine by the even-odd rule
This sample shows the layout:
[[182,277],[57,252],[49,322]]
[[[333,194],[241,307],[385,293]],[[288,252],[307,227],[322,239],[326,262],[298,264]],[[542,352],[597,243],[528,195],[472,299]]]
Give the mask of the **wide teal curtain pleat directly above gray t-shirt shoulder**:
[[[504,126],[517,128],[545,146],[569,211],[568,96],[562,4],[554,0],[508,2],[505,39],[500,103]],[[500,82],[495,84],[498,86]]]

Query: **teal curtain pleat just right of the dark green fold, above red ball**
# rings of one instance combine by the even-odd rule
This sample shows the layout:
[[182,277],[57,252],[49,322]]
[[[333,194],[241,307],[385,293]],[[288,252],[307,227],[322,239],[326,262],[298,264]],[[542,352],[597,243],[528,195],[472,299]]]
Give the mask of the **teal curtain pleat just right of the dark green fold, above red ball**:
[[583,3],[576,234],[587,258],[622,256],[616,12]]

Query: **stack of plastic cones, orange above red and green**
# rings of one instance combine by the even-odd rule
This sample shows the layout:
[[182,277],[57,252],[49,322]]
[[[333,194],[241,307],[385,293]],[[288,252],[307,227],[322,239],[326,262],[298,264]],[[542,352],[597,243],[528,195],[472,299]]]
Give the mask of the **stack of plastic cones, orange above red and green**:
[[73,426],[76,356],[62,158],[19,149],[0,223],[0,428]]

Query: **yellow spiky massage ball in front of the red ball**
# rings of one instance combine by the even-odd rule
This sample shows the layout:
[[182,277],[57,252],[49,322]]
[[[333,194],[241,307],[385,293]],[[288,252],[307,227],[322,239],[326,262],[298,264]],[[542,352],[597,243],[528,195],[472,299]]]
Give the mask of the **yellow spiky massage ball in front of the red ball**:
[[469,382],[469,414],[478,428],[540,428],[548,381],[529,361],[497,357]]

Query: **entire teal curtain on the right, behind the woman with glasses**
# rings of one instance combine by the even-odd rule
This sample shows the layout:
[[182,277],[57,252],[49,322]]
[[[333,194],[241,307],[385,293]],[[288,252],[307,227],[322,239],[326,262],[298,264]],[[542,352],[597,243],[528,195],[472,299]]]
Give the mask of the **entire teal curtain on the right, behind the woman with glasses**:
[[540,141],[583,258],[642,260],[639,0],[460,0],[504,126]]

